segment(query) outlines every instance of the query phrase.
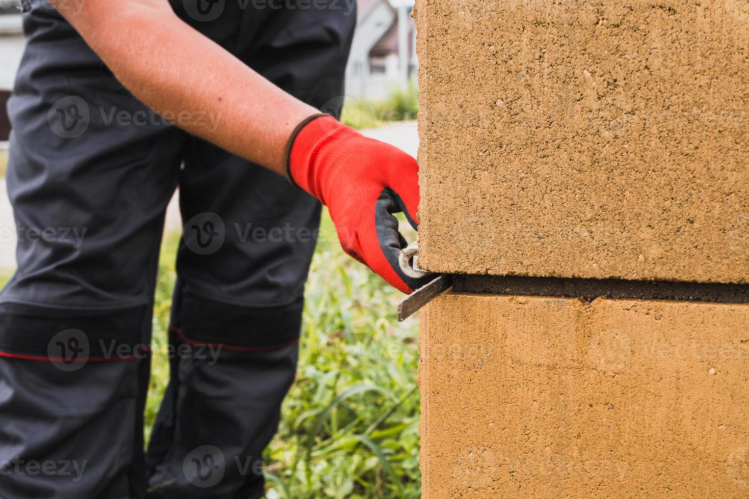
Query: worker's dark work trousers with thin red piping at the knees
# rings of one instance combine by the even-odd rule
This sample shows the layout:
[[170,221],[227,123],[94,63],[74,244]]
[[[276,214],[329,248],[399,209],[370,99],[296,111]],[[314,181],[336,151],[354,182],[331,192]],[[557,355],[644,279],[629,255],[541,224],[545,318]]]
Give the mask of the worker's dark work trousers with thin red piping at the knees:
[[[339,111],[350,1],[172,5],[280,88]],[[321,206],[166,123],[46,2],[26,7],[8,105],[19,268],[0,294],[0,498],[261,497]],[[157,263],[177,187],[185,232],[160,352],[171,381],[144,453]]]

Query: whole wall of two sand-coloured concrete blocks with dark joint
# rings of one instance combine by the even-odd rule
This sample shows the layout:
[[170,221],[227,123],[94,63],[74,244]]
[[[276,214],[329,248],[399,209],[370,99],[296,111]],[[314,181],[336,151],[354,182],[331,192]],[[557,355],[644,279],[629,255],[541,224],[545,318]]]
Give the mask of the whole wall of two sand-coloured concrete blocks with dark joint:
[[414,16],[424,497],[749,497],[749,4]]

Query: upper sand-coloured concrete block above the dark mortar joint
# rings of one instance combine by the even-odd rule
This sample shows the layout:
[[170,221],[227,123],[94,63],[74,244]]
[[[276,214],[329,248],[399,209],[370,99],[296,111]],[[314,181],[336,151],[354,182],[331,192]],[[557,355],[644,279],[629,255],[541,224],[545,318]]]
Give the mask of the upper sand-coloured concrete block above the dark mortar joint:
[[746,0],[417,0],[420,265],[749,282]]

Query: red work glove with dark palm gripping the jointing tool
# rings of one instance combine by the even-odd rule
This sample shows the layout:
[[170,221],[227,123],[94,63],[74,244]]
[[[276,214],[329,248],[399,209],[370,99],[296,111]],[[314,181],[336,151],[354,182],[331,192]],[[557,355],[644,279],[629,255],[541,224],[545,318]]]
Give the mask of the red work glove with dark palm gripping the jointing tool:
[[403,274],[406,242],[393,213],[419,224],[419,165],[397,147],[366,138],[334,117],[304,120],[291,134],[288,177],[328,207],[343,251],[403,293],[428,282]]

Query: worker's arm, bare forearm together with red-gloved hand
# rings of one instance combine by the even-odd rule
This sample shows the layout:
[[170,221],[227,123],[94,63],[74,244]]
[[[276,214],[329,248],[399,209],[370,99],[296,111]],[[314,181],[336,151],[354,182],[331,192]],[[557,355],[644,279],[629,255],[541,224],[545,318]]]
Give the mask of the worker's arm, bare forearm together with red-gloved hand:
[[167,0],[86,0],[78,15],[58,10],[123,85],[164,117],[220,117],[215,129],[181,120],[178,126],[279,174],[292,143],[290,180],[327,205],[344,251],[404,293],[425,284],[400,269],[404,239],[392,215],[405,211],[418,224],[419,165],[412,157],[333,117],[305,123],[314,108],[190,28]]

